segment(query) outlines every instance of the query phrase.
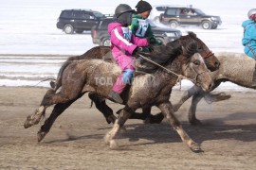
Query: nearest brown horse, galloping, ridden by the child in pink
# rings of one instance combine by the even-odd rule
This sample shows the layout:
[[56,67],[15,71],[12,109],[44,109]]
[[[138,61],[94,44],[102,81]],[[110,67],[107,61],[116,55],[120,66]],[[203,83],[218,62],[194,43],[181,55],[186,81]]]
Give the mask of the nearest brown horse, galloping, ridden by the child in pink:
[[[148,54],[148,58],[155,60],[155,62],[160,60],[168,72],[160,68],[155,69],[153,74],[140,75],[134,78],[130,89],[121,94],[125,108],[121,110],[113,129],[106,134],[106,144],[110,144],[111,147],[117,145],[114,138],[119,131],[119,127],[123,126],[135,110],[156,106],[178,132],[182,141],[188,144],[192,151],[201,151],[200,146],[192,141],[175,118],[172,104],[169,101],[172,88],[180,77],[177,75],[192,79],[196,85],[201,86],[204,90],[210,88],[210,72],[200,54],[196,52],[197,42],[193,41],[186,43],[183,47],[177,41],[169,45],[154,47],[154,52]],[[67,108],[66,106],[70,106],[87,92],[97,93],[107,98],[112,85],[105,83],[106,81],[99,81],[99,79],[115,82],[119,74],[119,66],[102,59],[72,61],[64,68],[60,92],[56,93],[52,89],[48,90],[40,107],[33,115],[27,117],[24,126],[31,127],[37,124],[45,114],[46,108],[55,104],[52,113],[38,132],[38,141],[42,141],[56,118]]]

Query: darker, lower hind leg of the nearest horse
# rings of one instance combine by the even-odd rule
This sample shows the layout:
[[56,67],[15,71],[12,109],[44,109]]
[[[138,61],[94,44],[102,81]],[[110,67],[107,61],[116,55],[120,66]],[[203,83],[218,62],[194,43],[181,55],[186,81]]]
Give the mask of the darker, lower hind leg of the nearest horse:
[[45,138],[46,134],[49,132],[50,128],[52,127],[57,117],[61,115],[64,112],[64,110],[66,110],[72,103],[74,103],[80,97],[82,97],[82,94],[74,100],[70,100],[65,103],[58,103],[54,106],[54,109],[52,110],[50,116],[46,119],[45,124],[41,127],[41,129],[37,133],[38,142],[41,142]]

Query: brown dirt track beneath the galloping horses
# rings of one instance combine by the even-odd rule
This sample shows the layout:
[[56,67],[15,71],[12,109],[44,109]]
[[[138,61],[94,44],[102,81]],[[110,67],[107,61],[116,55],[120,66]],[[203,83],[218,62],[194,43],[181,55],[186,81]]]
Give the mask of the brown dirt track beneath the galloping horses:
[[[111,150],[103,136],[112,125],[95,106],[90,108],[86,95],[64,111],[38,144],[43,122],[27,129],[23,124],[45,93],[46,88],[0,87],[0,169],[256,169],[256,93],[231,92],[229,100],[211,105],[201,101],[200,127],[188,123],[191,100],[176,112],[201,144],[204,152],[199,154],[192,153],[166,121],[146,125],[128,120],[127,132],[117,140],[119,149]],[[181,93],[174,91],[171,101]],[[121,108],[108,105],[115,111]]]

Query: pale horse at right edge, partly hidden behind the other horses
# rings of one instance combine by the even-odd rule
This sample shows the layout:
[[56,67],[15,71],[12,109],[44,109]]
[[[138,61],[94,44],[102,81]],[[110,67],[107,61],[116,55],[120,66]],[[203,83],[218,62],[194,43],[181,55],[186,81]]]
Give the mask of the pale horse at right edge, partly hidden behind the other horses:
[[189,121],[192,125],[201,124],[195,116],[195,111],[197,104],[203,97],[205,97],[208,103],[230,98],[230,95],[226,93],[210,93],[217,88],[221,82],[230,81],[242,87],[256,89],[255,59],[247,57],[244,53],[219,53],[216,57],[220,60],[221,64],[218,70],[210,74],[214,82],[210,91],[204,92],[200,87],[193,86],[191,89],[183,93],[181,99],[174,104],[174,111],[176,111],[192,96],[192,104],[189,110]]

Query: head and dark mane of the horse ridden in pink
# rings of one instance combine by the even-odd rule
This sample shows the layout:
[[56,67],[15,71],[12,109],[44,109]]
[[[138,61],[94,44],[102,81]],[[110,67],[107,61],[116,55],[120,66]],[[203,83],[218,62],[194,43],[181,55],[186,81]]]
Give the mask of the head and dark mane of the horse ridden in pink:
[[[145,60],[142,63],[146,69],[150,69],[152,72],[160,69],[160,71],[170,71],[170,73],[174,71],[173,74],[176,76],[178,74],[186,76],[194,84],[207,91],[212,83],[210,71],[198,51],[198,42],[187,39],[181,44],[176,40],[166,45],[156,45],[152,53],[142,54],[155,62]],[[163,67],[165,67],[164,70],[162,70]]]

